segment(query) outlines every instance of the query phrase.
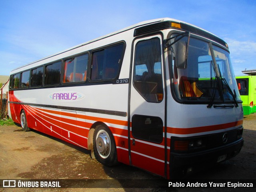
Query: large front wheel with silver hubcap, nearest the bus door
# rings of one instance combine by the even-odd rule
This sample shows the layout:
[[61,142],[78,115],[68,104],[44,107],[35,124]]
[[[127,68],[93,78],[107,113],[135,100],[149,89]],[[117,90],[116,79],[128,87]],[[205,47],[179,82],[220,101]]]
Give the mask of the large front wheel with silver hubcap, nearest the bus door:
[[99,125],[93,134],[93,149],[96,159],[105,166],[114,166],[118,163],[116,144],[111,131]]

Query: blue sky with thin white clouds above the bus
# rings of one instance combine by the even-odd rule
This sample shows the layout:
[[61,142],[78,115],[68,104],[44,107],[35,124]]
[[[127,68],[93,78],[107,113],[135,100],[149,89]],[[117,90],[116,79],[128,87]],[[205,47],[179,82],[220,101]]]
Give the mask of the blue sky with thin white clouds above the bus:
[[255,0],[0,0],[0,75],[141,21],[170,17],[223,38],[236,75],[256,69]]

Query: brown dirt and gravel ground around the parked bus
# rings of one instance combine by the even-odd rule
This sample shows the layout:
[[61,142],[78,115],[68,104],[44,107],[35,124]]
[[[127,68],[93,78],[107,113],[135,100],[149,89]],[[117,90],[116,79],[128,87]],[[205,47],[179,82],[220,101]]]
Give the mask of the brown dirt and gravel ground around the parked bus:
[[[189,179],[256,179],[256,114],[244,117],[244,147],[236,157],[215,165]],[[37,131],[22,132],[16,125],[0,126],[0,179],[160,179],[138,168],[120,164],[105,167],[90,158],[90,152]],[[110,182],[110,184],[111,184]],[[157,182],[157,181],[156,181]],[[86,191],[243,191],[230,188],[97,188]],[[117,185],[119,186],[119,185]],[[255,188],[254,188],[255,190]],[[254,191],[251,188],[244,191]],[[0,191],[78,191],[82,188],[0,188]]]

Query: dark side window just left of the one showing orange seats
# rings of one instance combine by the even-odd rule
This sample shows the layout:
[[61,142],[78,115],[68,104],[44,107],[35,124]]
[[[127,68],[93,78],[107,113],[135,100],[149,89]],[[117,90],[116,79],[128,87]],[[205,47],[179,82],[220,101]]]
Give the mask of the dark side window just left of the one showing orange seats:
[[45,85],[53,85],[60,83],[60,71],[61,71],[61,62],[56,62],[46,66],[45,69]]

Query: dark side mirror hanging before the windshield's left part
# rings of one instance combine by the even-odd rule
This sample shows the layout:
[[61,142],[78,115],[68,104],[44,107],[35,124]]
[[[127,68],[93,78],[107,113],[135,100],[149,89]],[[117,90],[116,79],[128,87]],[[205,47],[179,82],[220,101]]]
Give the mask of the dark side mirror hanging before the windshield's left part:
[[185,41],[178,41],[176,49],[176,67],[185,69],[186,68],[186,52],[187,45]]

